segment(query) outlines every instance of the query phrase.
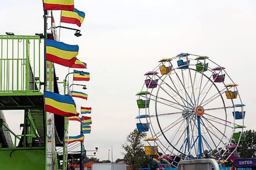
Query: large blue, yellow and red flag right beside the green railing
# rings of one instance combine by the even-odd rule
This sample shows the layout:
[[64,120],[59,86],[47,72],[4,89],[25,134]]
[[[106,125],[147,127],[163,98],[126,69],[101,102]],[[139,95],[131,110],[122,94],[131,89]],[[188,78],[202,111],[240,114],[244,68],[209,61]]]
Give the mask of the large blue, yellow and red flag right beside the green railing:
[[46,60],[71,67],[78,55],[78,45],[69,45],[52,39],[46,39]]

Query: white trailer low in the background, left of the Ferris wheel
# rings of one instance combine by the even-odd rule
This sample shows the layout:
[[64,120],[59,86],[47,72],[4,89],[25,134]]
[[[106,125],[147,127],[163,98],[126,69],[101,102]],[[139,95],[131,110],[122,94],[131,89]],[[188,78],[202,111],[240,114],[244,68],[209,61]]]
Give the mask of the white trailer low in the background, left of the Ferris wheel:
[[120,163],[94,163],[92,170],[126,170],[126,164]]

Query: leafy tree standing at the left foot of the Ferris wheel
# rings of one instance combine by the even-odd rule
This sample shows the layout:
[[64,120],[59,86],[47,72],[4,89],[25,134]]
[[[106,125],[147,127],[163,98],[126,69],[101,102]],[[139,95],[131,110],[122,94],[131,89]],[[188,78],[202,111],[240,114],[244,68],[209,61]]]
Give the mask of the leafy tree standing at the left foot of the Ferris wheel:
[[127,138],[126,142],[122,145],[125,150],[124,160],[130,165],[131,170],[136,170],[138,168],[145,167],[148,163],[148,157],[146,157],[143,144],[141,139],[144,138],[146,134],[144,132],[138,132],[135,129],[131,132]]

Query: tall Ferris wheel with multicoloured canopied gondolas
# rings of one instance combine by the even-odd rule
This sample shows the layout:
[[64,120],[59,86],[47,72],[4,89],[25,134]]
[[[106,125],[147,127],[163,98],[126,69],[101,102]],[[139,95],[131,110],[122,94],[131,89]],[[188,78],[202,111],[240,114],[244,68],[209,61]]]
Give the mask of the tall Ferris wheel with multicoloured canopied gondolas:
[[181,53],[144,74],[137,129],[147,132],[146,155],[180,159],[239,157],[245,140],[244,104],[226,69],[207,56]]

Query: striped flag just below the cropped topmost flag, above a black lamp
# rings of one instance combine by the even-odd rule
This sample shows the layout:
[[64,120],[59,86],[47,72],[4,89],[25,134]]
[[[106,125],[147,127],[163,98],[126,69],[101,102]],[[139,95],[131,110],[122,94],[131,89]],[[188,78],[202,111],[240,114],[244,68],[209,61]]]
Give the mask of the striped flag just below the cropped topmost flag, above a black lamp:
[[74,23],[78,27],[81,27],[82,21],[86,14],[82,11],[78,11],[74,8],[74,11],[61,11],[60,22]]

